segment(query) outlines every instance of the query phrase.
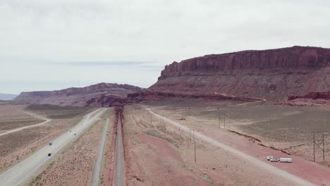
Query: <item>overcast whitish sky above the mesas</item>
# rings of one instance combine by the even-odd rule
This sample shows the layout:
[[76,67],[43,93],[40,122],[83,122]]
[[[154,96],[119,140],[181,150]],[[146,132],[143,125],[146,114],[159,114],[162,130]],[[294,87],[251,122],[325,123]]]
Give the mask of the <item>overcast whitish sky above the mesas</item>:
[[330,48],[329,33],[326,0],[0,0],[0,92],[149,87],[173,61]]

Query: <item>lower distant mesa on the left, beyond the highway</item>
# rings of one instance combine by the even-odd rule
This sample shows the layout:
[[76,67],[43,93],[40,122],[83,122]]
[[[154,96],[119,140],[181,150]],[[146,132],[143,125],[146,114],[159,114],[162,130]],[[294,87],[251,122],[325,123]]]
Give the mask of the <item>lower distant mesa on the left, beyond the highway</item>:
[[111,106],[126,99],[127,94],[140,91],[140,87],[99,83],[82,88],[55,91],[22,92],[14,100],[30,104],[61,106]]

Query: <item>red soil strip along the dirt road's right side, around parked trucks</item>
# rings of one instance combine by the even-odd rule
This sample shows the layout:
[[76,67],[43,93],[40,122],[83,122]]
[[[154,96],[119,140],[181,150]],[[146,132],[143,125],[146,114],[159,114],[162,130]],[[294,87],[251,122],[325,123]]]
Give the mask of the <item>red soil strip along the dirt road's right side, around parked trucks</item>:
[[[156,112],[162,113],[162,111]],[[171,115],[167,112],[166,117],[171,118],[171,120],[175,120],[177,123],[186,125],[185,121],[173,118],[173,114]],[[214,122],[217,123],[216,121]],[[198,118],[193,118],[193,116],[190,117],[188,123],[189,128],[192,128],[198,132],[201,132],[204,135],[212,137],[214,140],[218,140],[223,144],[238,149],[239,151],[242,151],[245,154],[255,157],[260,161],[264,161],[265,163],[271,163],[266,160],[266,156],[269,155],[276,156],[277,158],[292,157],[293,163],[271,163],[271,165],[276,166],[277,168],[280,168],[284,171],[287,171],[288,173],[296,175],[304,180],[309,180],[314,184],[330,185],[330,168],[327,168],[326,166],[321,166],[317,163],[306,161],[305,159],[302,159],[297,156],[288,156],[281,151],[276,151],[268,147],[262,147],[255,140],[250,140],[247,137],[235,135],[232,132],[226,131],[224,129],[219,129],[216,125],[202,125],[201,121]]]

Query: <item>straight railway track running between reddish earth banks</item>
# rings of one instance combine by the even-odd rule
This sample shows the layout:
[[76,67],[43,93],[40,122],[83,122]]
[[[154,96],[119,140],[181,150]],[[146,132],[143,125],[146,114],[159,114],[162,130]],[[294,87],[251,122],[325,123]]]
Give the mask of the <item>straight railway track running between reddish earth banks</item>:
[[123,157],[123,136],[121,135],[121,117],[118,118],[117,123],[117,137],[116,137],[116,157],[114,168],[114,185],[123,186],[125,171],[124,171],[124,157]]

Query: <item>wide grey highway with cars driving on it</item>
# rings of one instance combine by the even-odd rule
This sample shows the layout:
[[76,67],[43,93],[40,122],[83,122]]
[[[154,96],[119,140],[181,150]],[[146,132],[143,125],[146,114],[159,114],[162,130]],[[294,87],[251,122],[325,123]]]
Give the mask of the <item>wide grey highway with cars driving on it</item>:
[[[13,186],[13,185],[22,185],[23,182],[31,178],[35,171],[43,166],[47,161],[51,161],[51,157],[59,152],[63,147],[65,147],[73,139],[77,138],[80,133],[90,127],[96,120],[99,120],[99,117],[106,111],[106,109],[97,109],[82,118],[78,125],[75,125],[71,128],[70,132],[65,132],[63,135],[59,136],[54,140],[52,145],[49,145],[49,142],[36,151],[34,154],[29,156],[27,159],[24,159],[16,166],[8,169],[6,172],[0,175],[0,185],[1,186]],[[94,113],[97,113],[92,117]],[[76,134],[76,135],[74,135]],[[51,156],[48,154],[51,153]]]

